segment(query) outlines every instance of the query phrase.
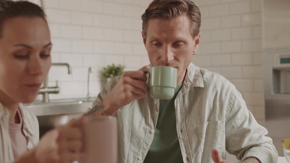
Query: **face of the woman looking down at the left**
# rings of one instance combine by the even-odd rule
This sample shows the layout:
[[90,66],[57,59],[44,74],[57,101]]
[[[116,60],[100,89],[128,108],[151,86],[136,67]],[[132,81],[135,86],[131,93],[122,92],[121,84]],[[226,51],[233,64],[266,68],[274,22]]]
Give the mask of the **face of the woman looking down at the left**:
[[0,31],[0,100],[31,103],[51,67],[52,43],[40,17],[6,20]]

